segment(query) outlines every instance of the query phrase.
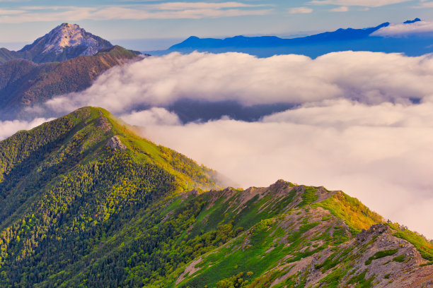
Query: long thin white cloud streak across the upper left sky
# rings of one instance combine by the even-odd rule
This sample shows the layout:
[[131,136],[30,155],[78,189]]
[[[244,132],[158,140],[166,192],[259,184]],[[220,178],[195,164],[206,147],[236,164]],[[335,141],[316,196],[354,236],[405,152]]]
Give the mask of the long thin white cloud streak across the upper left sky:
[[[267,8],[266,8],[267,7]],[[2,9],[0,23],[35,21],[79,21],[115,19],[199,19],[232,16],[260,16],[270,13],[271,5],[240,2],[171,2],[123,6],[23,6]]]

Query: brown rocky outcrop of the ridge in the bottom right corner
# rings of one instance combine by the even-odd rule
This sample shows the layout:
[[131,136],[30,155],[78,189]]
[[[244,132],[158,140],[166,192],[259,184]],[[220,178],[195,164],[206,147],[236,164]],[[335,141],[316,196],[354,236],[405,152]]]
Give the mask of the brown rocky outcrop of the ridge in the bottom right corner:
[[[315,215],[318,210],[311,212],[312,215]],[[345,224],[339,225],[345,226]],[[325,230],[318,230],[318,232],[323,231]],[[287,269],[287,272],[285,274],[280,272],[282,276],[277,277],[270,287],[290,277],[300,282],[302,275],[305,277],[305,287],[328,287],[323,286],[326,283],[326,277],[330,277],[329,275],[332,275],[333,272],[336,274],[336,271],[343,271],[337,274],[337,276],[340,275],[340,286],[338,287],[358,287],[355,285],[358,281],[371,282],[375,285],[374,287],[432,287],[433,266],[422,267],[420,264],[427,263],[427,260],[422,258],[415,246],[408,241],[393,236],[394,232],[396,231],[386,224],[374,224],[370,229],[357,234],[356,239],[351,239],[333,248],[325,248],[313,256],[290,263],[290,265],[282,263],[277,270]],[[344,251],[348,253],[345,255]],[[393,252],[388,256],[386,254],[378,256],[386,251]],[[398,257],[402,259],[396,260]],[[330,260],[335,261],[331,265],[333,269],[323,268],[326,263],[331,263]],[[354,277],[362,273],[364,273],[362,280],[354,280]],[[343,286],[343,283],[346,286]]]

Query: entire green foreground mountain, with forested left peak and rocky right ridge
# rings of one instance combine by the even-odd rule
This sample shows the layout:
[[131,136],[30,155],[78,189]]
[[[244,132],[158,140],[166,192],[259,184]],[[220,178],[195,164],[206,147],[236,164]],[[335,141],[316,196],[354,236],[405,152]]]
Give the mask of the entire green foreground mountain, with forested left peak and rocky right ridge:
[[104,109],[20,131],[0,142],[0,286],[432,284],[432,244],[342,191],[217,179]]

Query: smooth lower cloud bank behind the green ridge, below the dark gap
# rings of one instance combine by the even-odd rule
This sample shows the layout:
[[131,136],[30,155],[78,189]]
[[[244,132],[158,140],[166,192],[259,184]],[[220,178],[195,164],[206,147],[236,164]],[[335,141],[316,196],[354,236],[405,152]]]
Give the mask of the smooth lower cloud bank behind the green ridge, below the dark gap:
[[244,187],[286,179],[342,189],[433,238],[432,109],[332,100],[254,123],[150,125],[143,134]]

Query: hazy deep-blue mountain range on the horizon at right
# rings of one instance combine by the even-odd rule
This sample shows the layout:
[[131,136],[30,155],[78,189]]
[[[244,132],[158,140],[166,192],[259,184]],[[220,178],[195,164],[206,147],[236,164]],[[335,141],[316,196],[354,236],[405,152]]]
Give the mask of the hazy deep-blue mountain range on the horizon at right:
[[[420,18],[405,21],[405,24],[415,23]],[[316,58],[323,54],[340,51],[371,51],[398,52],[408,56],[419,56],[433,52],[433,37],[379,37],[371,34],[390,23],[382,23],[376,27],[364,29],[338,29],[316,35],[284,39],[276,36],[245,37],[235,36],[225,39],[189,37],[163,52],[151,54],[167,54],[170,52],[243,52],[259,57],[276,54],[303,54]]]

